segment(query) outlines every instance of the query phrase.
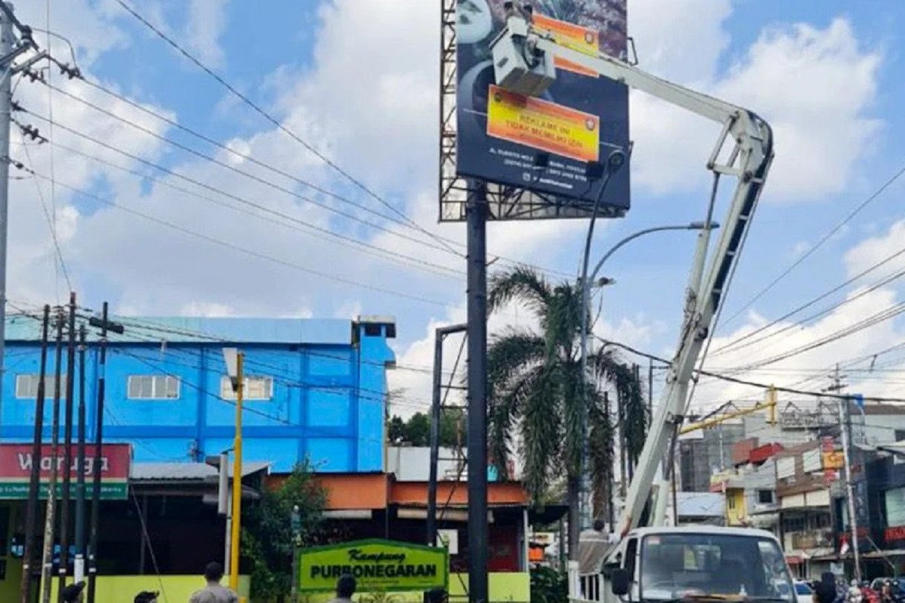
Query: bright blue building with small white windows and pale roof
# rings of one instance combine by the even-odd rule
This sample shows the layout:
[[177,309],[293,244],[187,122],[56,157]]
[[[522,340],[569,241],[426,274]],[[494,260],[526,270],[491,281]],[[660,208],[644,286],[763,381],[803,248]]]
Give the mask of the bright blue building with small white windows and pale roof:
[[[395,338],[392,318],[115,320],[125,332],[109,338],[104,440],[132,443],[135,462],[197,462],[232,447],[235,401],[222,350],[237,347],[245,354],[245,459],[271,462],[275,472],[291,471],[306,456],[319,472],[384,469],[386,370],[395,362],[387,344]],[[40,330],[33,318],[7,321],[0,407],[4,442],[33,436]],[[90,441],[97,408],[97,342],[92,329],[85,369]],[[64,373],[65,363],[64,348]],[[54,366],[51,346],[45,441]]]

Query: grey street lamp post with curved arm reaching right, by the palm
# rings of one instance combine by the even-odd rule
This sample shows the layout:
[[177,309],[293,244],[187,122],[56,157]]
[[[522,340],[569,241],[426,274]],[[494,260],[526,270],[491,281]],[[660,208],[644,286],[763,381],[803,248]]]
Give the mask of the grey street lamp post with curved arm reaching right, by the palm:
[[[590,282],[593,282],[597,276],[597,273],[600,273],[600,269],[603,267],[604,263],[610,259],[610,257],[620,249],[624,244],[637,239],[643,235],[650,235],[651,233],[659,233],[667,230],[714,230],[719,228],[719,224],[716,222],[691,222],[686,225],[672,225],[672,226],[655,226],[653,228],[645,228],[643,230],[638,231],[637,233],[633,233],[632,235],[626,236],[624,239],[619,241],[610,247],[610,250],[607,251],[600,261],[594,267],[594,271],[588,275],[587,274],[587,264],[588,259],[591,252],[591,236],[594,234],[594,218],[591,218],[591,225],[587,231],[587,239],[585,244],[585,256],[582,261],[582,273],[580,277],[580,285],[581,285],[581,334],[580,334],[580,346],[581,346],[581,374],[582,376],[587,375],[587,307],[590,305],[591,298],[591,287]],[[588,458],[589,458],[589,448],[588,448],[588,408],[587,408],[587,397],[586,397],[586,389],[582,388],[582,397],[583,397],[583,406],[585,420],[582,422],[582,450],[581,450],[581,499],[579,501],[579,512],[581,515],[581,530],[587,530],[591,527],[591,493],[590,493],[590,479],[588,475]],[[613,529],[613,526],[610,526],[610,530]]]

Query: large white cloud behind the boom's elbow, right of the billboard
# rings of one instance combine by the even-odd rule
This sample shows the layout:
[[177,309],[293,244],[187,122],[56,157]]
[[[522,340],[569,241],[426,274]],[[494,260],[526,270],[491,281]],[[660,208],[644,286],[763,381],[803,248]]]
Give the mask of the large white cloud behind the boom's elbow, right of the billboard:
[[[862,48],[851,24],[836,19],[824,29],[767,29],[726,72],[700,85],[773,126],[776,161],[765,199],[814,200],[843,190],[871,154],[869,142],[881,129],[869,117],[880,66],[881,53]],[[703,75],[669,62],[663,68],[679,81]],[[632,103],[634,182],[654,194],[700,186],[719,128],[640,93]]]

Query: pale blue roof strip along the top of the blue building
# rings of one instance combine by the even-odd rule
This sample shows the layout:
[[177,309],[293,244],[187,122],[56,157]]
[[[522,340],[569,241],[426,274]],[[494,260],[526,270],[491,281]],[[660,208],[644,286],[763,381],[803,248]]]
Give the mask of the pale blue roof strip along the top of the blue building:
[[[110,341],[148,343],[166,340],[169,343],[320,343],[348,345],[352,338],[353,321],[340,319],[300,318],[212,318],[200,316],[115,316],[112,321],[125,327],[122,335],[110,335]],[[395,327],[392,317],[362,317],[358,322],[388,324]],[[388,331],[395,335],[395,329]],[[31,316],[10,316],[6,319],[7,341],[37,341],[41,339],[41,321]],[[96,339],[90,330],[89,339]]]

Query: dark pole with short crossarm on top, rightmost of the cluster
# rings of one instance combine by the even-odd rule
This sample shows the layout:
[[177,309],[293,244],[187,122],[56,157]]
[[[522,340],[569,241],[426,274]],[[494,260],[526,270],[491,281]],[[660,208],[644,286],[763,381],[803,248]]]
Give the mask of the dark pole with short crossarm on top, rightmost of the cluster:
[[91,466],[91,535],[88,549],[88,603],[94,603],[98,580],[98,530],[100,529],[100,471],[103,466],[104,397],[107,387],[107,331],[121,334],[121,324],[110,321],[110,304],[104,302],[100,319],[91,317],[88,323],[100,327],[100,358],[98,359],[98,405],[95,408],[94,459]]

